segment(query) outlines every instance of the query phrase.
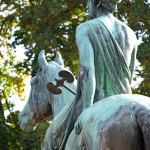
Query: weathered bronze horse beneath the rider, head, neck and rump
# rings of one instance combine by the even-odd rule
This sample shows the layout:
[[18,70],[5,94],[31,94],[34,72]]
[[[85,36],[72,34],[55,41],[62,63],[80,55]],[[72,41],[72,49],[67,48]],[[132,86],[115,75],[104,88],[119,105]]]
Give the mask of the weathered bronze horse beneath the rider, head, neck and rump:
[[[65,146],[61,130],[62,121],[75,96],[62,88],[62,94],[50,93],[46,85],[54,82],[58,72],[64,70],[60,54],[57,62],[47,62],[44,52],[38,57],[40,69],[31,80],[29,100],[19,116],[22,130],[34,131],[38,123],[54,114],[47,129],[42,150],[150,150],[150,98],[137,94],[120,94],[104,98],[85,109],[78,117]],[[74,83],[66,83],[76,90]],[[53,141],[56,139],[56,141]],[[56,145],[56,146],[55,146]],[[55,146],[55,147],[54,147]]]

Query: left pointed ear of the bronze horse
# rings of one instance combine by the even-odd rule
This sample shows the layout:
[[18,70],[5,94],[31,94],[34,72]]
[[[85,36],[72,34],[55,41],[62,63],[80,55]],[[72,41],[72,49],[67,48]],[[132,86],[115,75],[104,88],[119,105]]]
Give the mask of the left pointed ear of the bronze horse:
[[48,63],[45,59],[45,51],[44,50],[42,50],[38,56],[38,64],[42,69],[44,69],[48,65]]

